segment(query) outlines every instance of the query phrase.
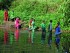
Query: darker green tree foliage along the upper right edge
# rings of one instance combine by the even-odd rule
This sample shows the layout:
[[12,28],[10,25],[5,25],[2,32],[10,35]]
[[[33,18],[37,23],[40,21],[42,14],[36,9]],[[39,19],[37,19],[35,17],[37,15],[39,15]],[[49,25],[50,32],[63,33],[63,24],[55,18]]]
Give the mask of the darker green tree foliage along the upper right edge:
[[66,0],[64,14],[64,26],[68,26],[70,21],[70,0]]

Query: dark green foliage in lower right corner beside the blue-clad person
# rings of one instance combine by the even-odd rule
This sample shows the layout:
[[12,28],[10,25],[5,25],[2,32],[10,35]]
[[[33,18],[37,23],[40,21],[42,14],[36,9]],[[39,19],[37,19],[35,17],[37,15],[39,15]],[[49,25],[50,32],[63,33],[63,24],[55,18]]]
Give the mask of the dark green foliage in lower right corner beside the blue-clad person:
[[63,46],[64,49],[69,49],[70,48],[70,37],[69,37],[70,33],[68,32],[68,34],[65,32],[61,35],[61,44]]

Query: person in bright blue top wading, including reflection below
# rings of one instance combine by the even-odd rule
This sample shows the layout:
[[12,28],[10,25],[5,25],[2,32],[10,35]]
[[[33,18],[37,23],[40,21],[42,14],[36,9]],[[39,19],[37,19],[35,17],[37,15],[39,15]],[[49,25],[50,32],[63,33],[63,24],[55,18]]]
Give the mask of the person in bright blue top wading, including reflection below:
[[55,42],[56,42],[56,47],[57,47],[57,49],[59,49],[60,34],[61,34],[60,24],[57,23],[57,26],[56,26],[56,28],[55,28]]

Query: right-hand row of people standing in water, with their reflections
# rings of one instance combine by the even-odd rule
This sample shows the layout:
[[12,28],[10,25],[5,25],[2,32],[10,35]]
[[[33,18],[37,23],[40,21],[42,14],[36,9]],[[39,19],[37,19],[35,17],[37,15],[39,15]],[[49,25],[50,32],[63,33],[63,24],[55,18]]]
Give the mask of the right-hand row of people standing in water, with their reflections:
[[[31,33],[31,42],[33,43],[33,39],[35,36],[35,20],[33,18],[30,19],[29,22],[29,37],[30,37],[30,33]],[[51,43],[52,43],[52,20],[50,20],[50,23],[48,25],[48,29],[46,30],[46,23],[45,21],[42,21],[41,23],[41,29],[42,31],[42,35],[41,35],[41,43],[44,44],[45,43],[45,39],[46,39],[46,31],[48,30],[48,46],[51,47]],[[61,34],[61,29],[60,29],[60,22],[57,22],[57,25],[55,27],[55,44],[57,49],[59,49],[59,44],[60,44],[60,34]]]

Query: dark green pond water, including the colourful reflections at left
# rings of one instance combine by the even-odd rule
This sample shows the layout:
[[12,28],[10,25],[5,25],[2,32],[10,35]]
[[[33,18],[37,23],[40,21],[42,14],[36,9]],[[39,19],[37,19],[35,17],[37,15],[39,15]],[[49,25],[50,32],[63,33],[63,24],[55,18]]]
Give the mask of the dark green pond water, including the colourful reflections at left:
[[27,30],[0,29],[0,53],[63,53],[62,42],[60,42],[59,51],[56,48],[54,33],[51,49],[48,47],[47,36],[48,33],[45,44],[41,44],[41,32],[35,32],[32,44],[31,35]]

